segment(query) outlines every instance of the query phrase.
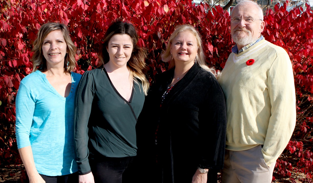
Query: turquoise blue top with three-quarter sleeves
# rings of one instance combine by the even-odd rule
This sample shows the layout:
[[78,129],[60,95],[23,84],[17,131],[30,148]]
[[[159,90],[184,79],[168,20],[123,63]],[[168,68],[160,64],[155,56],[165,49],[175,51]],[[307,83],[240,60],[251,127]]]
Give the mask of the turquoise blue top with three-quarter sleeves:
[[69,96],[61,96],[40,71],[23,78],[16,97],[18,148],[31,146],[39,174],[77,171],[74,153],[74,96],[81,75],[72,72]]

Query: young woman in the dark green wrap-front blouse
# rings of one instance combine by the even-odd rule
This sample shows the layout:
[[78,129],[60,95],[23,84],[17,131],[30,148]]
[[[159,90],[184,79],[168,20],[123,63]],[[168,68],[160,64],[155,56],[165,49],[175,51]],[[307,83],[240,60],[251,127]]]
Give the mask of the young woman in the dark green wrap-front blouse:
[[106,31],[101,67],[84,73],[75,97],[75,148],[79,182],[133,182],[136,122],[149,87],[145,50],[131,23]]

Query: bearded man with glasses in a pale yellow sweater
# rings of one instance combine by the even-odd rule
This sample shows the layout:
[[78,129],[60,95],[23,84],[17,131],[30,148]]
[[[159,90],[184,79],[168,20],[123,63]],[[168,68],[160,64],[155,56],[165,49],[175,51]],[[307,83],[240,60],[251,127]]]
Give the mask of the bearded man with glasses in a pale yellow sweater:
[[264,39],[263,12],[250,0],[231,14],[236,45],[218,82],[227,108],[223,183],[271,182],[295,128],[295,85],[287,52]]

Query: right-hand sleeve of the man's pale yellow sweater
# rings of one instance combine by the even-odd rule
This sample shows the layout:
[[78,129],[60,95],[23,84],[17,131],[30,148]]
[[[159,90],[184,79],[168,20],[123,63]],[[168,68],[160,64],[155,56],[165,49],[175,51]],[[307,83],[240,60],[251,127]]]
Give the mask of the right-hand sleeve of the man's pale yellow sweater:
[[286,148],[295,128],[295,84],[288,54],[279,53],[268,72],[271,116],[262,154],[267,164],[273,163]]

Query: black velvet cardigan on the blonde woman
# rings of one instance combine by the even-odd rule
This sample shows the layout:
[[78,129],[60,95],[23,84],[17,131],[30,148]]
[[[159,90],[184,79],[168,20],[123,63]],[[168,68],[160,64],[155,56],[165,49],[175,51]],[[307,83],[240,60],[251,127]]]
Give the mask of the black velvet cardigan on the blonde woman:
[[[215,173],[223,168],[225,98],[216,78],[194,64],[160,107],[173,75],[174,68],[160,74],[146,97],[137,122],[137,156],[141,166],[155,172],[150,175],[155,182],[190,183],[198,166]],[[215,173],[208,179],[215,181]]]

